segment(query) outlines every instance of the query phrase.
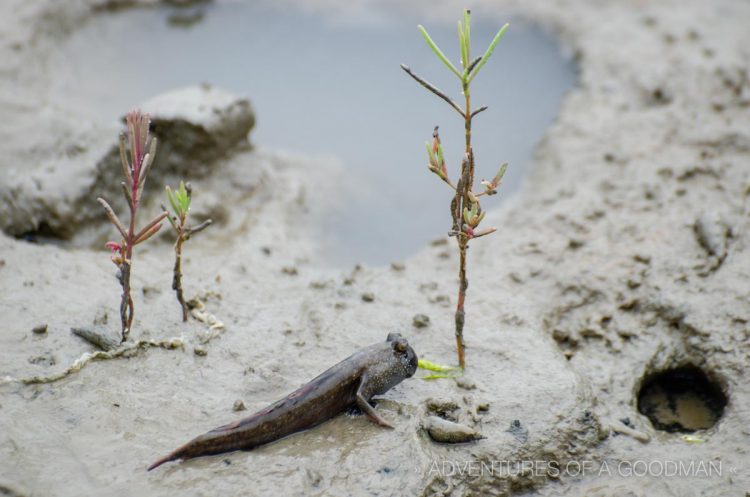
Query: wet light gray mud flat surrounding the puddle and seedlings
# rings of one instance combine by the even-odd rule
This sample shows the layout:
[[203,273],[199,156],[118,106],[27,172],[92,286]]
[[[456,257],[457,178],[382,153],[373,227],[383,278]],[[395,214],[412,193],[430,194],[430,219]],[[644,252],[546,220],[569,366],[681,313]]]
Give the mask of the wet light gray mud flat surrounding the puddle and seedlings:
[[[116,143],[118,125],[63,111],[62,96],[47,91],[54,74],[45,72],[45,54],[101,5],[9,0],[0,7],[0,214],[8,233],[40,213],[61,222],[78,216],[74,200],[90,191],[96,165]],[[0,492],[719,496],[750,489],[750,53],[740,21],[750,7],[476,8],[495,6],[556,33],[575,54],[580,80],[521,192],[488,215],[498,234],[472,245],[466,377],[394,388],[377,409],[395,430],[344,415],[252,452],[146,473],[156,458],[241,416],[237,400],[250,412],[264,407],[387,332],[403,333],[421,356],[453,357],[452,244],[427,246],[393,267],[316,264],[311,220],[342,184],[340,167],[238,143],[193,181],[196,214],[219,220],[185,249],[184,285],[205,304],[202,320],[180,321],[168,242],[136,255],[133,339],[155,346],[89,362],[52,384],[19,381],[94,353],[70,329],[116,326],[119,292],[104,250],[0,235]],[[432,9],[455,16],[453,4]],[[182,110],[205,104],[198,97]],[[191,119],[207,129],[205,116]],[[90,215],[97,206],[92,199],[76,208]],[[415,327],[416,314],[429,325]],[[33,331],[40,323],[46,333]],[[644,380],[685,365],[723,392],[723,414],[689,434],[656,430],[638,410]],[[433,442],[422,426],[435,412],[485,438]],[[667,460],[692,461],[693,473],[665,477],[651,466],[627,474],[628,464]],[[467,461],[485,470],[457,470]],[[511,471],[486,470],[503,461]],[[546,469],[512,470],[525,461]],[[585,461],[593,466],[576,474]],[[697,470],[709,463],[712,473]]]

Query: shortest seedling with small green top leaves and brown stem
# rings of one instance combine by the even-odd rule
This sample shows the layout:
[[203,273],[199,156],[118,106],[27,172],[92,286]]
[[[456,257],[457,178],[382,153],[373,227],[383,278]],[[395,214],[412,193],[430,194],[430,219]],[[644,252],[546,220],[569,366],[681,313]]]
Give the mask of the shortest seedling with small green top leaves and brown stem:
[[[186,223],[187,215],[190,211],[190,201],[193,198],[193,189],[190,183],[185,184],[184,181],[180,181],[180,187],[175,189],[173,192],[169,186],[167,189],[167,198],[169,199],[169,205],[172,206],[172,212],[169,213],[167,219],[174,228],[177,234],[177,240],[174,242],[174,275],[172,276],[172,290],[177,294],[177,301],[180,303],[182,308],[182,320],[187,321],[188,306],[185,303],[185,298],[182,296],[182,244],[190,239],[194,234],[203,231],[208,228],[212,221],[207,219],[195,228],[188,226]],[[161,208],[167,210],[162,204]]]

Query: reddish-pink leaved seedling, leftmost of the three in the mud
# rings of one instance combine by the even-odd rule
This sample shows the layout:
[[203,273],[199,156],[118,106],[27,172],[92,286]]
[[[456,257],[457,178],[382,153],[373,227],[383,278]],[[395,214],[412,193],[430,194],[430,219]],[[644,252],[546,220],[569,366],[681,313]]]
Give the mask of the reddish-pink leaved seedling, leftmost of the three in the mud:
[[[135,218],[138,213],[138,207],[141,204],[141,195],[143,186],[146,183],[151,165],[156,153],[156,138],[149,140],[148,114],[141,114],[139,110],[128,113],[125,121],[128,126],[128,136],[120,133],[120,162],[122,162],[122,172],[125,180],[120,183],[122,193],[130,210],[130,220],[123,224],[117,217],[115,211],[109,203],[102,197],[97,198],[107,217],[112,221],[117,232],[122,237],[120,242],[109,241],[106,247],[112,251],[112,262],[117,266],[117,279],[122,286],[122,299],[120,301],[120,321],[122,323],[122,342],[128,339],[130,329],[133,325],[133,315],[135,306],[131,296],[130,274],[133,267],[133,248],[139,243],[143,243],[161,228],[162,220],[167,217],[166,212],[157,215],[140,230],[136,230]],[[127,158],[127,144],[130,142],[130,161]],[[148,150],[148,152],[146,152]]]

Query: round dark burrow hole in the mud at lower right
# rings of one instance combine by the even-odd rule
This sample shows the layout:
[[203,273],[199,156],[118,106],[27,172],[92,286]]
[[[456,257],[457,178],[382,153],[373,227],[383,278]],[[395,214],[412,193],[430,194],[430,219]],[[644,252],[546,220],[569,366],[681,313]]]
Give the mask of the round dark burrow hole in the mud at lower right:
[[638,392],[638,411],[657,430],[692,433],[714,426],[727,401],[719,383],[688,364],[647,375]]

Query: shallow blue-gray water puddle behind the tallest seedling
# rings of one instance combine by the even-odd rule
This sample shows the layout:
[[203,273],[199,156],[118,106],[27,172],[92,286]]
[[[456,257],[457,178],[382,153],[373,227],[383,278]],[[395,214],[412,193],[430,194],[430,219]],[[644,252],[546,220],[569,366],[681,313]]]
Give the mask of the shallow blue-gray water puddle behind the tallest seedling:
[[[430,19],[427,4],[367,11],[344,4],[351,11],[259,2],[102,13],[61,48],[50,84],[99,119],[202,82],[248,95],[258,119],[254,144],[333,157],[346,167],[337,207],[319,221],[321,259],[337,265],[403,259],[450,228],[450,191],[428,173],[423,142],[440,125],[455,175],[463,122],[399,64],[458,99],[457,79],[416,25],[425,24],[457,60],[460,10],[443,20]],[[507,19],[482,9],[473,18],[479,53]],[[552,38],[512,23],[472,85],[475,105],[489,105],[474,121],[477,180],[510,163],[501,195],[486,208],[518,188],[574,78]]]

